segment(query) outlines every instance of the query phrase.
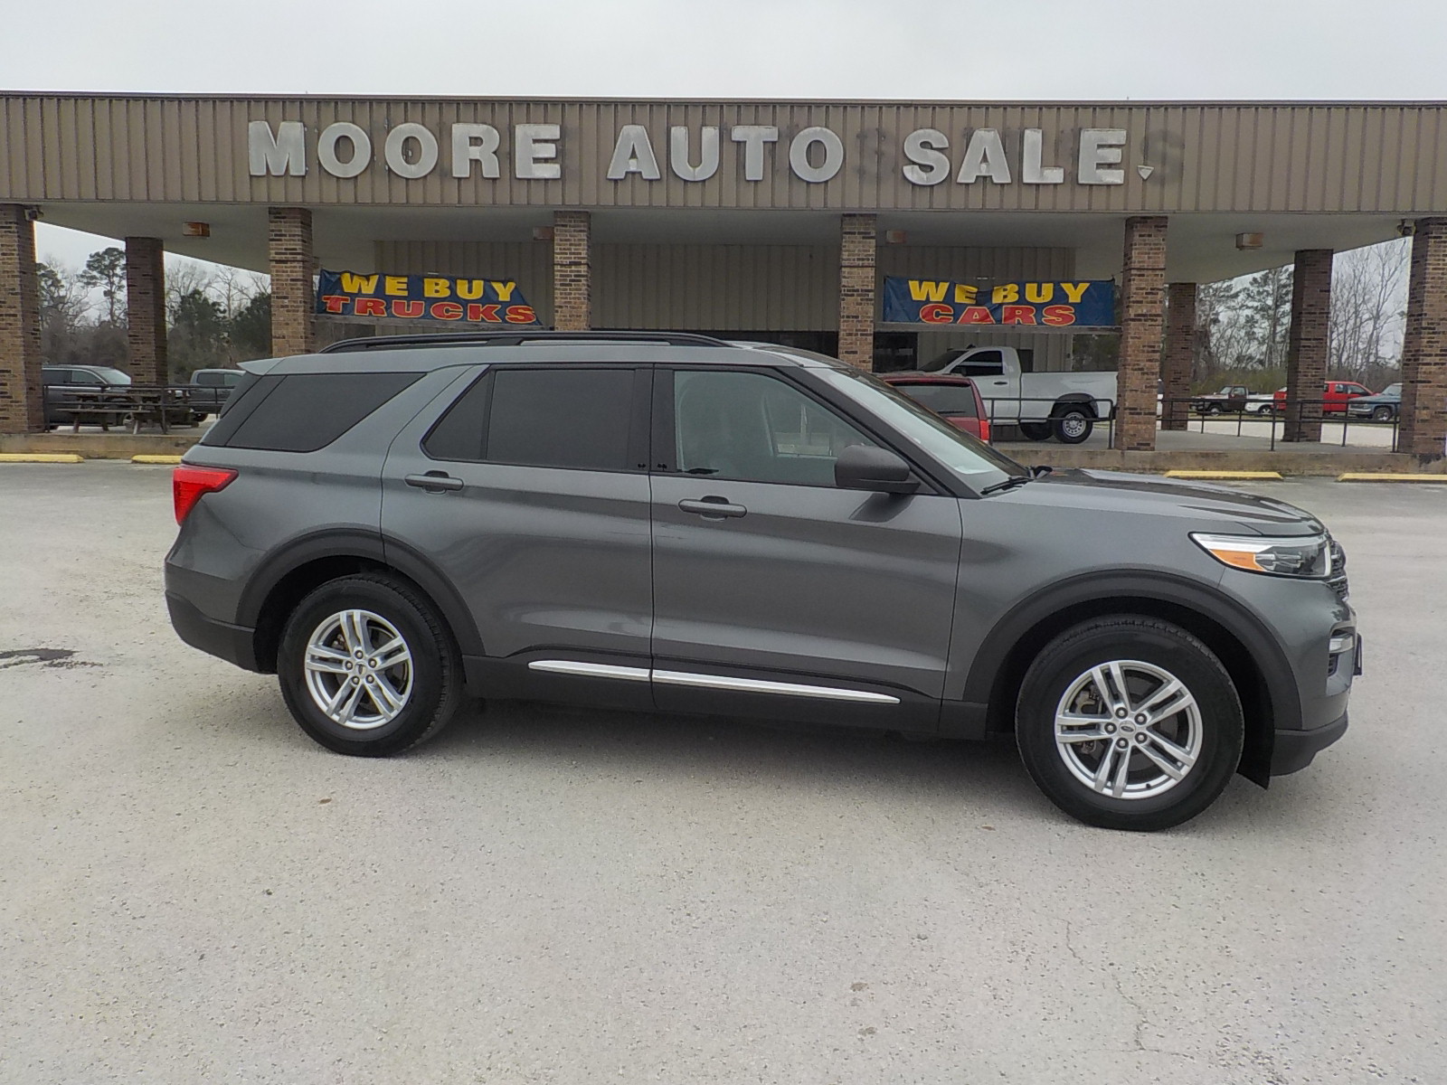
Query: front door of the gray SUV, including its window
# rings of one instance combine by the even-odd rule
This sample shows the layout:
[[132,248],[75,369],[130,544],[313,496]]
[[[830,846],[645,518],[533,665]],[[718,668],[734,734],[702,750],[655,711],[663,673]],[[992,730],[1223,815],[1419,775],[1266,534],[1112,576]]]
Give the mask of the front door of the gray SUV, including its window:
[[875,441],[786,373],[655,375],[654,700],[933,726],[958,499],[836,489],[835,456]]

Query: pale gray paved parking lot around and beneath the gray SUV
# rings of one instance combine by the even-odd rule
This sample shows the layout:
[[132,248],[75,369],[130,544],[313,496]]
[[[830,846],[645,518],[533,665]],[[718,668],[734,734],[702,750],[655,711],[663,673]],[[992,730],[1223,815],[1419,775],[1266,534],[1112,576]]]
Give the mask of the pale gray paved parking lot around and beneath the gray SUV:
[[1447,488],[1347,736],[1087,829],[1009,745],[502,703],[391,761],[175,639],[169,472],[0,466],[0,1081],[1440,1082]]

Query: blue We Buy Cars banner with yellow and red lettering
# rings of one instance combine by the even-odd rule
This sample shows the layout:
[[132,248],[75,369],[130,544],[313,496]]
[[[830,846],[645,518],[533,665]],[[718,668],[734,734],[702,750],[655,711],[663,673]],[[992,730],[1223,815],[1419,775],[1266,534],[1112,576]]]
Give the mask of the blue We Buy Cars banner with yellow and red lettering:
[[1108,328],[1116,324],[1116,284],[884,279],[886,324],[1035,324]]

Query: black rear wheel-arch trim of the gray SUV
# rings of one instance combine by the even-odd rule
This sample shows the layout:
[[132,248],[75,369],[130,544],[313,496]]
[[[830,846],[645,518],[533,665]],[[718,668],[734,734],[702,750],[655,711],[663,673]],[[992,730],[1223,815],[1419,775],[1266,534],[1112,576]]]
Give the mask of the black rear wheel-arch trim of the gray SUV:
[[237,608],[237,622],[255,629],[276,586],[302,566],[326,557],[356,557],[391,566],[415,583],[441,612],[463,655],[482,655],[478,624],[457,590],[437,567],[396,540],[357,528],[326,528],[287,541],[256,567]]

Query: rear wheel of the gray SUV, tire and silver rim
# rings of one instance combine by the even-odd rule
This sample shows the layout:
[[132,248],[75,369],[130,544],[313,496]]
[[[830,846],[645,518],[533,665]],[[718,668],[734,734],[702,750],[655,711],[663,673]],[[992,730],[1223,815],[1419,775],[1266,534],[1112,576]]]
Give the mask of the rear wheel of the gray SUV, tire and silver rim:
[[[405,661],[388,667],[368,655],[383,647],[378,641],[394,638],[402,645],[392,658],[405,651]],[[370,660],[379,661],[375,670],[366,665]],[[298,603],[282,629],[276,677],[301,729],[327,749],[353,757],[415,746],[441,731],[463,700],[462,658],[433,606],[415,589],[373,574],[331,580]],[[349,684],[359,693],[346,694],[328,715],[323,700]],[[401,705],[388,705],[388,694]]]

